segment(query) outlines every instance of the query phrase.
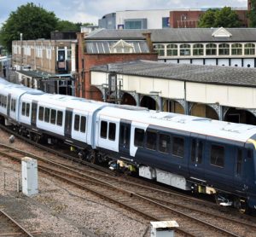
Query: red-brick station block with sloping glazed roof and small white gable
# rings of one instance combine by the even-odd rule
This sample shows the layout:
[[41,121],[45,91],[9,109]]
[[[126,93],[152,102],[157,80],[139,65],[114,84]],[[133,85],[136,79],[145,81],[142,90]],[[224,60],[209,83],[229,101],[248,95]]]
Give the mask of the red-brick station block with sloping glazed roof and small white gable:
[[[78,34],[79,72],[76,79],[76,95],[86,99],[109,101],[107,84],[111,78],[105,78],[105,84],[90,84],[90,68],[102,64],[134,60],[157,61],[150,41],[150,34],[132,38],[94,38],[94,33],[84,38]],[[103,95],[103,98],[102,98]]]

